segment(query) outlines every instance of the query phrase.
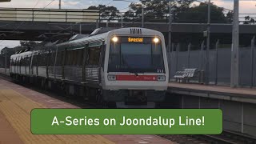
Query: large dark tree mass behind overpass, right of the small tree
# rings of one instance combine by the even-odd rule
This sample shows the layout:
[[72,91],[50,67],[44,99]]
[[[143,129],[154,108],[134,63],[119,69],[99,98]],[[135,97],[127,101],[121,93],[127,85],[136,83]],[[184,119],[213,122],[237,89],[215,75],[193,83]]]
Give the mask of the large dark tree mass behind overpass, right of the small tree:
[[[145,22],[166,22],[169,18],[169,1],[164,0],[140,0],[145,5],[144,15]],[[191,4],[194,0],[176,0],[172,4],[174,14],[174,22],[207,22],[208,5],[200,3],[198,6]],[[130,4],[130,10],[124,14],[124,20],[138,22],[142,18],[142,6],[136,6],[135,3]],[[135,18],[133,18],[134,16]],[[211,6],[211,22],[226,23],[231,22],[233,13],[223,13],[220,8],[212,3]]]

